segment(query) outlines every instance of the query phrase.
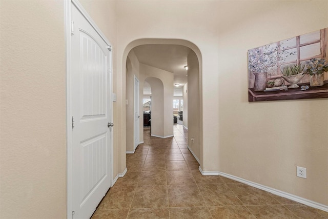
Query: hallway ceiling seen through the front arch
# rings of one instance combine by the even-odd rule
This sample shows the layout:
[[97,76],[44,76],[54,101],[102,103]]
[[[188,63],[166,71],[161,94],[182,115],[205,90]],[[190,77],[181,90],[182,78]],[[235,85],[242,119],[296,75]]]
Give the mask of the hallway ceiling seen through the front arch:
[[[133,51],[140,63],[172,72],[174,74],[173,84],[180,85],[174,87],[174,95],[182,96],[182,87],[187,83],[187,70],[184,66],[187,65],[190,48],[181,45],[148,44],[137,46],[133,48]],[[149,95],[150,91],[147,83],[144,94]]]

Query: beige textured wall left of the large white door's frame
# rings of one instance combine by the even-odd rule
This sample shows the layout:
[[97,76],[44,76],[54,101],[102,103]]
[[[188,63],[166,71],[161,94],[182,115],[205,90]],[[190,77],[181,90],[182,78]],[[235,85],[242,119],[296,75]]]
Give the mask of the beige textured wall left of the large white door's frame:
[[0,8],[0,217],[65,218],[64,2]]

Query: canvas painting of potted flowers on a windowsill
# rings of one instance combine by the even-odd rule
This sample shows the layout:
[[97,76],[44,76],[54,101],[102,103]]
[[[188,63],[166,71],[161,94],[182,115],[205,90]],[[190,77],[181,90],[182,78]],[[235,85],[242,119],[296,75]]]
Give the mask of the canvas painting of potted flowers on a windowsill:
[[249,102],[328,98],[328,28],[248,51]]

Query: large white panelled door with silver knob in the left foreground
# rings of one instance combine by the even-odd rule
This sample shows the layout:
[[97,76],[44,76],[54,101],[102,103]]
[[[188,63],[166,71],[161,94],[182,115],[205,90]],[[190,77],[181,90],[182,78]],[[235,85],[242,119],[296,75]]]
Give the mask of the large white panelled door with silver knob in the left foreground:
[[71,17],[72,217],[90,218],[111,186],[111,52],[74,4]]

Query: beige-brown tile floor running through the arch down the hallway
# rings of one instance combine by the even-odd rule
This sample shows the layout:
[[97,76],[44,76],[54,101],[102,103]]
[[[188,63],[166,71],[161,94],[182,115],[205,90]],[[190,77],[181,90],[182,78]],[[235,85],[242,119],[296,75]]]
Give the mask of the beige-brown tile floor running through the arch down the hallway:
[[327,212],[228,178],[201,175],[187,136],[182,125],[165,139],[145,129],[145,143],[127,154],[128,172],[92,218],[328,218]]

